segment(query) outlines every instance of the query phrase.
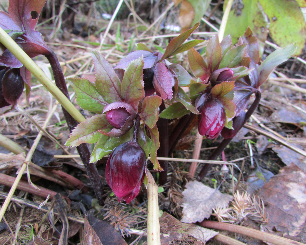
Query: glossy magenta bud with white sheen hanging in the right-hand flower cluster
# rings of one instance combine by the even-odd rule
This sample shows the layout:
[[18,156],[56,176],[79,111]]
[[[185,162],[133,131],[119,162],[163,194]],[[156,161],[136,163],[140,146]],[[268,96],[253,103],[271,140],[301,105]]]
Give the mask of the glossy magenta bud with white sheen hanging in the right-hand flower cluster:
[[222,104],[209,99],[200,107],[198,115],[199,133],[207,139],[214,139],[225,125],[225,109]]

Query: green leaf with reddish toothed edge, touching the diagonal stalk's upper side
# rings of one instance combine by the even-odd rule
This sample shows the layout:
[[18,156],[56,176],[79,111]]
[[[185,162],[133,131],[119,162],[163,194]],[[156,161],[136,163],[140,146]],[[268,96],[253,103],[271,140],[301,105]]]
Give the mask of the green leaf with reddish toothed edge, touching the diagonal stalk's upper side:
[[76,102],[84,110],[102,114],[108,103],[100,95],[93,83],[83,78],[68,78],[67,81],[76,92]]

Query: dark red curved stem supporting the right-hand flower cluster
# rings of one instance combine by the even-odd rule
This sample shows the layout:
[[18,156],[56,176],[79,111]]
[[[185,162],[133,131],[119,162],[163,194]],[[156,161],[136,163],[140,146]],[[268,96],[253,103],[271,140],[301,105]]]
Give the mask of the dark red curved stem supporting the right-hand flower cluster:
[[[256,108],[259,104],[259,101],[260,101],[260,98],[261,98],[261,93],[260,93],[259,90],[257,90],[255,92],[255,94],[256,94],[255,100],[252,103],[251,107],[248,109],[248,111],[245,113],[245,119],[244,119],[244,123],[242,124],[242,126],[248,121],[248,119],[251,117],[251,115],[256,110]],[[242,128],[242,126],[241,126],[241,128]],[[223,139],[222,142],[218,145],[218,147],[213,151],[213,153],[208,158],[208,160],[216,160],[217,157],[222,153],[222,151],[225,149],[225,147],[230,143],[230,141],[232,139],[233,138]],[[211,164],[209,164],[209,163],[204,164],[203,168],[201,169],[201,171],[200,171],[200,173],[197,177],[197,180],[202,181],[210,168],[211,168]]]

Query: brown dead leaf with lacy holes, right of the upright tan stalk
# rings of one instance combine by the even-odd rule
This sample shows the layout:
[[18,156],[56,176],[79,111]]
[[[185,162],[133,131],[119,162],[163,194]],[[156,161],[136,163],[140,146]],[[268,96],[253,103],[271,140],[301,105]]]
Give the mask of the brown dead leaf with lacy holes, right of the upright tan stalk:
[[209,239],[219,234],[219,232],[198,225],[182,223],[166,212],[162,214],[159,223],[162,245],[205,244]]

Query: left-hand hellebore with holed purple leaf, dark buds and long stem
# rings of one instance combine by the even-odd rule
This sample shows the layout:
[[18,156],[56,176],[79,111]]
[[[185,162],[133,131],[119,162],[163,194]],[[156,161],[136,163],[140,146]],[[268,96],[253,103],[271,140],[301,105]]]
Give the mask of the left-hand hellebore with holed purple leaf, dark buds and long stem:
[[[9,13],[0,11],[0,27],[15,40],[30,58],[39,54],[46,56],[50,62],[56,86],[69,99],[65,78],[58,58],[53,50],[43,41],[41,33],[34,30],[44,4],[45,1],[41,0],[9,0]],[[0,55],[0,74],[2,74],[3,69],[6,71],[5,74],[2,74],[3,77],[0,80],[0,107],[7,106],[8,104],[15,106],[22,93],[24,84],[26,87],[27,99],[29,99],[31,73],[22,66],[21,62],[2,44],[0,44]],[[3,68],[3,66],[6,68]],[[18,69],[20,71],[18,71]],[[71,131],[76,126],[77,122],[63,106],[62,110],[69,130]],[[86,172],[88,176],[90,176],[90,180],[95,183],[93,188],[99,203],[103,204],[103,185],[96,166],[89,164],[90,152],[85,144],[81,144],[76,148],[84,163]]]

